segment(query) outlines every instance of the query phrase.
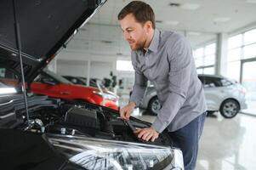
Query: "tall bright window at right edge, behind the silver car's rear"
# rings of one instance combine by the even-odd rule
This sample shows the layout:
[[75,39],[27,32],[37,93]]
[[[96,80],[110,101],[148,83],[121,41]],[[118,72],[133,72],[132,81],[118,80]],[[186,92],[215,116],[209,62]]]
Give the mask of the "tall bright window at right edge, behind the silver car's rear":
[[[242,68],[242,70],[241,70]],[[247,88],[247,110],[256,115],[256,29],[228,39],[227,76]]]

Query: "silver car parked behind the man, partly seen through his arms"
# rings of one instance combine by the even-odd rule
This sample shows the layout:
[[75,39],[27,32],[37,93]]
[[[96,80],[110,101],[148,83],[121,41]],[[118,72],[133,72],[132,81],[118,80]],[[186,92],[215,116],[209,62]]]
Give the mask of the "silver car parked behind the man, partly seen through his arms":
[[[213,75],[198,75],[198,78],[203,84],[208,113],[219,111],[225,118],[232,118],[240,110],[247,108],[246,89],[240,83],[226,77]],[[157,115],[161,109],[153,85],[146,88],[145,96],[139,107],[147,109],[153,115]]]

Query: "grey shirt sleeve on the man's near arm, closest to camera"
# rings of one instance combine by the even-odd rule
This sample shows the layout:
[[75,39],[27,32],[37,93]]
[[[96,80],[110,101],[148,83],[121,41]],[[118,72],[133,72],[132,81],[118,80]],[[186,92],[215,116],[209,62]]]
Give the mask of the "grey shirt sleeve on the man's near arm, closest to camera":
[[158,133],[162,133],[168,127],[185,102],[190,84],[192,59],[191,45],[185,37],[179,38],[174,42],[174,48],[168,50],[168,97],[152,124]]

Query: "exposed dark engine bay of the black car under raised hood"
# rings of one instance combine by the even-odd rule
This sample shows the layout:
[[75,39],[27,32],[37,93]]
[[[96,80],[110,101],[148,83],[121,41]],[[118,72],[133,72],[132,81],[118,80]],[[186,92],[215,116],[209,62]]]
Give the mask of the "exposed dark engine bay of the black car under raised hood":
[[[161,133],[155,142],[138,139],[134,128],[150,127],[151,123],[131,117],[123,121],[117,111],[99,105],[48,99],[46,96],[28,98],[29,123],[22,96],[1,105],[0,126],[32,133],[55,133],[71,136],[86,136],[99,139],[114,139],[143,144],[170,145],[168,134]],[[132,126],[132,127],[131,127]]]

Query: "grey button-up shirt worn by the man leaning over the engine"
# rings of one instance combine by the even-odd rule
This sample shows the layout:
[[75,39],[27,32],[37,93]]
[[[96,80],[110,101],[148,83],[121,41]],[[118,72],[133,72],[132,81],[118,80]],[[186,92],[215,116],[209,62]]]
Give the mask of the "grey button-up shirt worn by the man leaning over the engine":
[[148,50],[132,51],[135,82],[131,101],[137,106],[145,94],[147,81],[155,88],[162,109],[152,127],[158,133],[168,127],[173,132],[206,111],[202,83],[197,77],[190,43],[170,31],[155,30]]

